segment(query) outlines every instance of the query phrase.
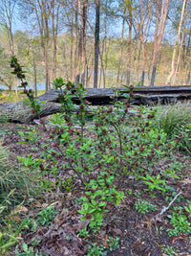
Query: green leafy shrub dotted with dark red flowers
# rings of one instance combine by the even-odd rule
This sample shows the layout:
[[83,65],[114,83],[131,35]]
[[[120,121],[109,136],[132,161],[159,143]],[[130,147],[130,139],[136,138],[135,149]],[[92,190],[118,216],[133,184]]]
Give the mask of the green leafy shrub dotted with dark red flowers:
[[[40,103],[33,97],[32,90],[27,88],[25,74],[16,58],[12,58],[11,66],[14,67],[13,74],[21,80],[32,113],[40,114]],[[151,127],[155,118],[153,110],[148,114],[138,108],[130,126],[128,112],[130,98],[134,96],[133,85],[127,88],[124,94],[127,100],[124,103],[118,101],[119,92],[116,90],[112,97],[113,106],[98,106],[96,112],[85,99],[85,90],[80,84],[75,86],[71,81],[65,82],[58,78],[53,81],[53,85],[63,111],[53,115],[51,127],[46,126],[45,120],[40,120],[42,131],[48,134],[44,143],[38,141],[38,131],[35,129],[28,132],[28,137],[20,132],[23,143],[31,147],[32,144],[38,145],[42,153],[38,159],[28,155],[27,158],[19,157],[19,160],[26,170],[40,170],[43,189],[53,190],[58,187],[73,192],[74,186],[83,188],[84,197],[79,198],[83,203],[82,209],[78,212],[83,215],[81,221],[89,220],[89,226],[96,232],[111,204],[117,205],[124,198],[124,193],[119,191],[123,177],[145,177],[145,168],[148,170],[154,160],[166,155],[166,150],[171,151],[172,145],[166,143],[165,132]],[[73,119],[76,109],[74,98],[79,103],[77,130]],[[86,117],[90,111],[95,115],[94,125],[90,129],[91,136],[86,136]],[[72,171],[70,177],[62,181],[60,172],[69,170]]]

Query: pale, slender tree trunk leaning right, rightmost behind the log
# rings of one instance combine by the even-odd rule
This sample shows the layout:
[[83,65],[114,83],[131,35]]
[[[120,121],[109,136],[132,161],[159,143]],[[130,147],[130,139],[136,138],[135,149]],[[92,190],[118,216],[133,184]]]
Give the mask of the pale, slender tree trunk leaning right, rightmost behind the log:
[[181,9],[181,15],[180,15],[180,25],[179,25],[179,31],[178,31],[178,35],[177,35],[177,40],[176,40],[176,44],[174,47],[174,51],[173,51],[173,58],[172,58],[172,63],[171,63],[171,72],[168,75],[165,84],[169,84],[171,78],[174,76],[175,74],[175,58],[177,55],[177,48],[179,45],[179,39],[180,39],[180,31],[181,31],[181,25],[182,25],[182,21],[183,21],[183,16],[184,16],[184,11],[185,11],[185,5],[187,3],[187,0],[183,0],[183,5],[182,5],[182,9]]

